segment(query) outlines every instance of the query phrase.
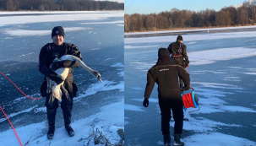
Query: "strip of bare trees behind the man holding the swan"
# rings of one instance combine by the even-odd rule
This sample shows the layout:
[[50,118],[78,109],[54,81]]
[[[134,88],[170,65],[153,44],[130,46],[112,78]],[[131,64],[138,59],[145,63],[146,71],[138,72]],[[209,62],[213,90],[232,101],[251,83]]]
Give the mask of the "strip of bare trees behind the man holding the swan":
[[1,11],[123,10],[124,3],[95,0],[0,0]]

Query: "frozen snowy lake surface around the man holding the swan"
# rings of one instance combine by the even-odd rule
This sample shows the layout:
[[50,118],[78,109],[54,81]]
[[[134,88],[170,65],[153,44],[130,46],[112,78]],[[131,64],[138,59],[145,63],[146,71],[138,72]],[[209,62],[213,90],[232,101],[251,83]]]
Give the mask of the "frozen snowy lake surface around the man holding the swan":
[[[52,28],[62,25],[65,42],[79,47],[83,61],[101,73],[100,83],[83,68],[74,68],[79,96],[74,98],[72,123],[75,136],[63,128],[63,113],[57,109],[55,138],[47,140],[45,99],[30,100],[0,76],[0,105],[27,145],[84,145],[96,128],[117,143],[123,129],[123,11],[14,12],[0,13],[0,72],[12,79],[26,95],[40,96],[43,75],[38,71],[41,47],[52,42]],[[2,111],[1,111],[2,112]],[[0,114],[0,145],[19,145],[3,114]],[[91,141],[90,145],[94,145]]]

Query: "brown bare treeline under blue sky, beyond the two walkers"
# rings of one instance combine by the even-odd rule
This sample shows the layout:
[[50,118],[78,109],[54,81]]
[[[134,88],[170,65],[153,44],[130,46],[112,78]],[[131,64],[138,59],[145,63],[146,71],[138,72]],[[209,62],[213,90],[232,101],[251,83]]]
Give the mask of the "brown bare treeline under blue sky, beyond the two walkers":
[[253,25],[256,23],[256,5],[253,2],[242,6],[226,7],[220,11],[206,9],[202,11],[179,10],[159,14],[125,14],[124,31],[173,30],[182,28],[226,27]]

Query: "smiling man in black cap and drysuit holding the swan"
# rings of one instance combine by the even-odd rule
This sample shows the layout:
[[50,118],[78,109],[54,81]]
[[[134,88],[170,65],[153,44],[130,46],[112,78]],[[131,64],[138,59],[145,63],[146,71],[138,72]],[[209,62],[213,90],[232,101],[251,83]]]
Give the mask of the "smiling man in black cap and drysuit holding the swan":
[[[73,68],[79,68],[79,62],[76,61],[61,61],[61,62],[53,62],[53,60],[57,57],[63,57],[63,55],[74,55],[79,57],[82,60],[81,53],[77,46],[74,44],[65,43],[64,41],[64,30],[62,26],[57,26],[52,29],[52,43],[47,43],[45,46],[41,48],[41,52],[39,55],[39,71],[45,75],[45,83],[46,77],[51,78],[57,84],[63,82],[62,78],[57,77],[57,73],[54,72],[57,68],[70,68],[68,77],[64,81],[64,88],[68,91],[68,95],[63,94],[61,108],[63,109],[63,117],[65,128],[70,137],[74,136],[74,130],[70,126],[71,123],[71,111],[73,108],[73,98],[76,96],[77,86],[73,81]],[[52,68],[50,65],[52,64]],[[42,84],[46,85],[46,84]],[[46,87],[43,89],[46,90]],[[41,92],[42,93],[42,92]],[[43,93],[46,93],[43,92]],[[49,131],[47,132],[47,138],[52,139],[54,137],[55,131],[55,117],[56,111],[58,107],[57,99],[55,98],[53,101],[50,100],[52,93],[42,94],[42,96],[46,96],[46,110],[47,110],[47,119],[49,125]],[[69,96],[69,97],[67,97]]]

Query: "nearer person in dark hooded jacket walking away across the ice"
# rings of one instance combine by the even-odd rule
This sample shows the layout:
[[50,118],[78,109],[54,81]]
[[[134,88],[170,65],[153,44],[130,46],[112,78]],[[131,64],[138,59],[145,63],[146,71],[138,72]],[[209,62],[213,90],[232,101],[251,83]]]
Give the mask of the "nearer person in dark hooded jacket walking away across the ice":
[[181,66],[170,62],[170,53],[166,48],[160,48],[158,51],[158,61],[147,73],[143,105],[148,107],[150,94],[156,82],[158,84],[158,99],[161,109],[161,132],[165,145],[171,145],[171,109],[175,121],[173,145],[184,145],[180,141],[183,127],[183,104],[181,91],[178,86],[178,77],[184,81],[184,90],[188,90],[188,85],[190,84],[188,73]]

